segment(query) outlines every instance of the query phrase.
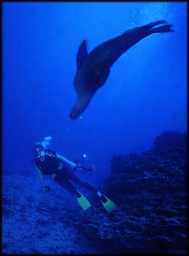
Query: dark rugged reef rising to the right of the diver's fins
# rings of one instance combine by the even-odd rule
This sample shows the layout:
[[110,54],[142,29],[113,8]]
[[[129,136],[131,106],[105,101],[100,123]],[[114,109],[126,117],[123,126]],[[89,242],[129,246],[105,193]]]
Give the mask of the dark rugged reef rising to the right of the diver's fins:
[[185,253],[186,151],[186,133],[166,131],[141,155],[114,155],[103,187],[118,209],[89,226],[89,235],[121,252]]

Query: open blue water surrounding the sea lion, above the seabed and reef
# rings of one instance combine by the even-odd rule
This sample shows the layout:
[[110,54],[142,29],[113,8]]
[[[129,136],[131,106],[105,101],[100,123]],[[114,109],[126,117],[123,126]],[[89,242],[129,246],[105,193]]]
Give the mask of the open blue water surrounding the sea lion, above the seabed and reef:
[[[186,130],[185,2],[3,3],[3,169],[36,172],[31,148],[51,136],[70,160],[87,155],[98,184],[113,154],[149,150],[165,130]],[[76,56],[124,31],[165,19],[115,62],[81,117],[69,118]],[[36,173],[35,173],[36,175]],[[16,183],[16,181],[14,181]],[[17,181],[18,183],[18,181]],[[36,184],[38,186],[38,184]]]

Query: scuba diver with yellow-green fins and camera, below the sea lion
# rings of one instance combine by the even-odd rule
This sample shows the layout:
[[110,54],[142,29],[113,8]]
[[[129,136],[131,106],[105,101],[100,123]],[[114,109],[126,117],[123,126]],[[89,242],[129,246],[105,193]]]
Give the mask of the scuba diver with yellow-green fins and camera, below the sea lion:
[[50,144],[51,137],[46,137],[44,141],[37,142],[32,149],[35,159],[34,162],[37,167],[37,173],[42,185],[43,191],[49,191],[50,187],[44,185],[44,175],[51,176],[55,182],[65,188],[69,193],[75,195],[78,199],[79,205],[83,210],[87,210],[91,205],[89,200],[82,195],[71,183],[79,184],[99,196],[101,203],[105,209],[110,213],[115,208],[115,204],[105,195],[102,195],[98,189],[91,184],[79,179],[74,172],[77,169],[86,171],[93,171],[92,167],[86,168],[82,163],[75,163],[69,161],[65,157],[59,155],[57,152],[48,150],[47,146]]

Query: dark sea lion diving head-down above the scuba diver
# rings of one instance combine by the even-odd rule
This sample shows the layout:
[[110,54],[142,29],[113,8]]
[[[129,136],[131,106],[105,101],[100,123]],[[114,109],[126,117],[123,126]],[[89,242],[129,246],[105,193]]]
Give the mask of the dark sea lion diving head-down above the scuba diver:
[[117,61],[121,54],[129,50],[134,44],[153,33],[173,32],[173,25],[158,20],[139,28],[127,30],[120,36],[101,43],[88,54],[86,40],[79,46],[77,55],[77,73],[74,78],[74,87],[77,100],[69,117],[75,119],[84,112],[97,90],[107,81],[110,67]]

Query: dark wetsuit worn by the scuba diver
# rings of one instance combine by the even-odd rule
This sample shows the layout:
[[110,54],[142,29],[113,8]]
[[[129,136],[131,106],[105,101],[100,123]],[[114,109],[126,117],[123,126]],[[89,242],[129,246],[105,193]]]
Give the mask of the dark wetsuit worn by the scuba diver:
[[98,192],[96,188],[88,184],[85,181],[79,179],[79,177],[74,173],[74,170],[68,166],[68,163],[62,160],[59,160],[56,152],[51,150],[45,150],[45,160],[41,161],[39,158],[35,159],[37,168],[44,175],[55,175],[55,181],[68,190],[71,194],[77,195],[77,190],[69,182],[72,181],[76,184],[79,184],[83,187],[86,187],[90,191],[95,193]]

